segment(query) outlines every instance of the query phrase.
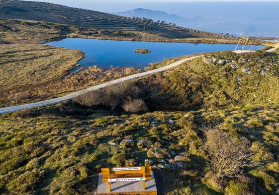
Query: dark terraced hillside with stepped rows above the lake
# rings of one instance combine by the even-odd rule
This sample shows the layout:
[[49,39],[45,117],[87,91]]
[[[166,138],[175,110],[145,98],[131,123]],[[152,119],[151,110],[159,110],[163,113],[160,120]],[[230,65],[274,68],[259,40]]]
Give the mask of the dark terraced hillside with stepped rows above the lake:
[[0,0],[0,17],[48,21],[99,29],[157,33],[165,38],[235,39],[227,35],[157,23],[151,19],[130,18],[47,2]]

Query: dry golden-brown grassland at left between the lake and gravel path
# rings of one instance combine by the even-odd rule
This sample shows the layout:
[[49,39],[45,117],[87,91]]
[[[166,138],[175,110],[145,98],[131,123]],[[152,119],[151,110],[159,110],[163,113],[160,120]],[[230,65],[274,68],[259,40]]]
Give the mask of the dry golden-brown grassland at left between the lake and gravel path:
[[41,45],[13,44],[0,48],[2,106],[52,98],[140,71],[92,66],[68,74],[83,58],[81,51]]

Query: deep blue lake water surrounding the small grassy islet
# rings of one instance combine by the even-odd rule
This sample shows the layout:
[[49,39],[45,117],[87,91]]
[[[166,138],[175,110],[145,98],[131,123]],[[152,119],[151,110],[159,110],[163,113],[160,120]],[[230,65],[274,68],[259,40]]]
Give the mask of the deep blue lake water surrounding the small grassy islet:
[[[46,45],[67,49],[80,49],[85,53],[85,58],[79,61],[80,67],[86,68],[97,65],[104,69],[109,69],[110,66],[132,66],[143,69],[149,66],[150,63],[161,62],[167,58],[203,52],[234,50],[236,47],[235,44],[133,42],[81,38],[67,38],[61,41],[50,42]],[[133,50],[137,48],[151,50],[151,53],[135,53]],[[251,46],[252,50],[260,50],[262,48],[263,46]]]

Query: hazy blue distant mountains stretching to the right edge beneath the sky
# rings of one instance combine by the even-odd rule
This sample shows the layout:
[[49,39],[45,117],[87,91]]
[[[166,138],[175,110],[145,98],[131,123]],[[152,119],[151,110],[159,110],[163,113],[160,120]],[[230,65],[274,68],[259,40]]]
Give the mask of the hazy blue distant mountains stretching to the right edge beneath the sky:
[[241,21],[222,18],[219,20],[205,19],[200,16],[184,18],[165,11],[156,11],[144,8],[136,8],[113,14],[127,17],[145,17],[155,21],[164,20],[167,23],[175,23],[177,26],[215,33],[229,33],[236,36],[239,36],[240,34],[263,37],[279,36],[279,17],[254,17]]

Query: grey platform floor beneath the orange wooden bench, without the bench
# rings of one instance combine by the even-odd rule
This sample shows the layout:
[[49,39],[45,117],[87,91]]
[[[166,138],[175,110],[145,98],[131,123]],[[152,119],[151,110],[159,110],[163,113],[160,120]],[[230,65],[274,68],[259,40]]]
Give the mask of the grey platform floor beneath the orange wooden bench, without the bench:
[[157,195],[154,173],[151,171],[151,180],[145,181],[145,191],[142,190],[142,181],[112,182],[111,192],[108,192],[108,183],[102,183],[102,174],[98,176],[96,195]]

